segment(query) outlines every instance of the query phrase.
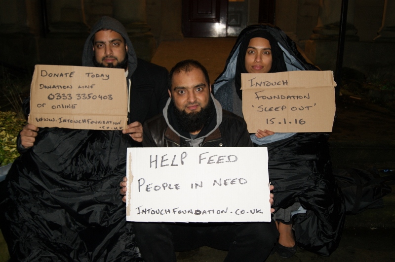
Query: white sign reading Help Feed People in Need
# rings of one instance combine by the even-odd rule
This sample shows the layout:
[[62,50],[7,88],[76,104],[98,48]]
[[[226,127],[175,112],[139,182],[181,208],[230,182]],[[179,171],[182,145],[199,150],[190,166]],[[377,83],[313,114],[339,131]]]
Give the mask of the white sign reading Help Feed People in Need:
[[126,220],[269,222],[266,147],[128,148]]

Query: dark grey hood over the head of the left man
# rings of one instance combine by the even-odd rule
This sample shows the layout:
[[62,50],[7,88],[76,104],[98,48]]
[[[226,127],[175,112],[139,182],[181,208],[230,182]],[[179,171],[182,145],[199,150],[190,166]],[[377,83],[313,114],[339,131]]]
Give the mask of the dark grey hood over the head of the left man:
[[88,38],[85,41],[85,45],[83,47],[82,51],[82,66],[95,66],[93,64],[93,38],[96,32],[102,30],[102,29],[110,29],[113,30],[120,35],[122,35],[123,39],[125,40],[125,43],[127,45],[128,51],[127,51],[127,65],[128,65],[128,77],[132,75],[134,70],[137,67],[137,57],[136,53],[134,51],[132,42],[129,39],[129,35],[126,32],[125,27],[115,18],[109,17],[109,16],[102,16],[99,21],[96,22],[96,24],[92,27],[92,30],[88,36]]

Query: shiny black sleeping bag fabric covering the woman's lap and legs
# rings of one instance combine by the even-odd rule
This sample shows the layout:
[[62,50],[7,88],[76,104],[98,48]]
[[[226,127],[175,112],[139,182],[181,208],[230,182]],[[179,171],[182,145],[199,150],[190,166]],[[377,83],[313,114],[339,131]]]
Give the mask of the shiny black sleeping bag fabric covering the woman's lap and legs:
[[297,133],[268,147],[275,209],[299,202],[305,214],[293,216],[299,247],[329,256],[339,245],[345,206],[332,174],[328,134]]

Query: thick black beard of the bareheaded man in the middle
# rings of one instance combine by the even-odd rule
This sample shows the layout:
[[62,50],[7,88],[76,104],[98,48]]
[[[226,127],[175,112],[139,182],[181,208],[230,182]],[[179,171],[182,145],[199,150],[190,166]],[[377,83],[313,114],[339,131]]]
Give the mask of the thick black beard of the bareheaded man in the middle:
[[[173,98],[171,99],[173,105]],[[213,110],[215,110],[213,99],[209,98],[205,107],[202,107],[199,112],[187,113],[185,110],[178,109],[175,105],[174,115],[177,119],[178,127],[185,132],[193,133],[202,130],[205,125],[208,125],[211,120]]]

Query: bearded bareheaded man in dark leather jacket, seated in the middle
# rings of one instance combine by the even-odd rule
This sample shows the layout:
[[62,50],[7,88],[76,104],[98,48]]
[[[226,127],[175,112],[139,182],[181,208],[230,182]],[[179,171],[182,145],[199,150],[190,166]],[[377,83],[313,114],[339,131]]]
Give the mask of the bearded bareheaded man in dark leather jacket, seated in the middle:
[[[171,69],[169,78],[171,99],[168,99],[163,114],[145,122],[144,147],[252,146],[245,121],[222,110],[211,95],[207,70],[200,63],[181,61]],[[122,195],[126,193],[126,181],[124,178],[120,183]],[[274,221],[133,223],[133,230],[146,262],[175,262],[175,251],[201,246],[228,250],[225,259],[228,262],[264,261],[278,236]]]

